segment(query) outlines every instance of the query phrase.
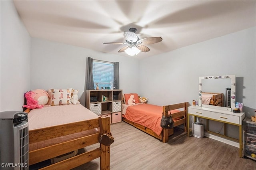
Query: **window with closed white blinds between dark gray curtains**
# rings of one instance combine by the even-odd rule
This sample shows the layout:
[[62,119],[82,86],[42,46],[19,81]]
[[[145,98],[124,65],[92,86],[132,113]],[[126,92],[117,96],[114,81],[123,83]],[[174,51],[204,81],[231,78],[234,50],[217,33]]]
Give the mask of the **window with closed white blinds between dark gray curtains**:
[[114,81],[114,63],[107,61],[92,61],[92,76],[94,81],[94,89],[96,89],[96,83],[100,87],[112,88]]

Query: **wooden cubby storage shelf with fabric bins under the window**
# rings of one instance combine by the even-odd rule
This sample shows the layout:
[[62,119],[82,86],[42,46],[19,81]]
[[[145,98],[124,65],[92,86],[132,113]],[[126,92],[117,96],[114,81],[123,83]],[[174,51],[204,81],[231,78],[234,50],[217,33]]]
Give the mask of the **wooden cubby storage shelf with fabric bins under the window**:
[[122,90],[86,90],[85,107],[111,123],[122,121]]

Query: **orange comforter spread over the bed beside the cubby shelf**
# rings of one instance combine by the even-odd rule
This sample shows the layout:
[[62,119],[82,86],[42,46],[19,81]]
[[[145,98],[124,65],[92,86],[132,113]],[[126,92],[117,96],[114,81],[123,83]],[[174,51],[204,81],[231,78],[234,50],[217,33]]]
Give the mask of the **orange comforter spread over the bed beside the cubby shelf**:
[[[138,123],[144,127],[150,128],[157,135],[162,132],[162,127],[160,126],[162,118],[163,107],[151,104],[142,105],[132,105],[127,107],[124,118]],[[180,112],[179,110],[171,111],[171,114]]]

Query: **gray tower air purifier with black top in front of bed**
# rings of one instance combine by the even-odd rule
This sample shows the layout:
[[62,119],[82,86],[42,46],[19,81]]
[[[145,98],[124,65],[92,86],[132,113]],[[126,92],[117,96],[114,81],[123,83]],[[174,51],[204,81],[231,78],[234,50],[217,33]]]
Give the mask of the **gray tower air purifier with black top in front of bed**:
[[4,111],[0,120],[0,169],[28,170],[28,114]]

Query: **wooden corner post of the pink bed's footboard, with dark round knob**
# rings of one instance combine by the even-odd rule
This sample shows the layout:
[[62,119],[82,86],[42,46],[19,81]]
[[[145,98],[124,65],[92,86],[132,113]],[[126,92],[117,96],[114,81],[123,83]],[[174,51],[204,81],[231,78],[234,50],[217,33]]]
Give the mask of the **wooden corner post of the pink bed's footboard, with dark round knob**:
[[[110,117],[104,117],[102,121],[102,132],[110,134]],[[110,146],[100,144],[101,156],[100,156],[100,170],[110,169]]]

